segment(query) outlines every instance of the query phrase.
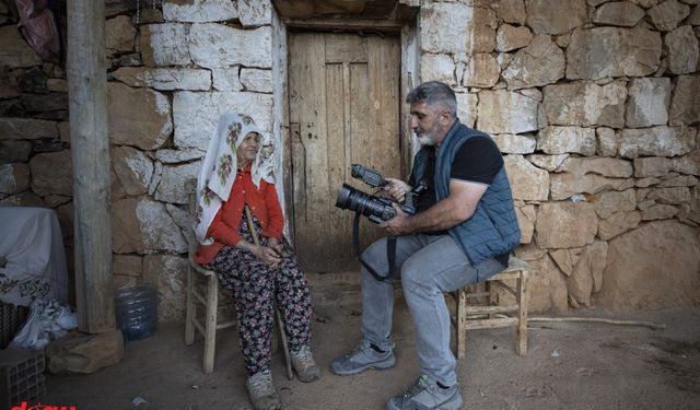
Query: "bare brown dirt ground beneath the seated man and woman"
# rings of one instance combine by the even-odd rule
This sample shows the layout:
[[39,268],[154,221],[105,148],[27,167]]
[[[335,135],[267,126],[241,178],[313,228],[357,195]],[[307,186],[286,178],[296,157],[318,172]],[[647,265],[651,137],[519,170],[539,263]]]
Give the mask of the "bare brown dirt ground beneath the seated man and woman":
[[[664,330],[590,323],[532,323],[528,353],[514,352],[514,329],[469,333],[458,363],[465,409],[700,409],[700,307],[634,315],[570,314],[666,325]],[[395,312],[397,365],[339,377],[330,361],[360,337],[359,306],[316,307],[313,348],[322,378],[303,384],[273,377],[284,409],[383,409],[418,375],[413,330],[405,303]],[[215,368],[201,372],[201,340],[183,342],[184,325],[127,342],[115,366],[92,375],[48,375],[44,405],[92,409],[250,409],[235,329],[220,332]]]

